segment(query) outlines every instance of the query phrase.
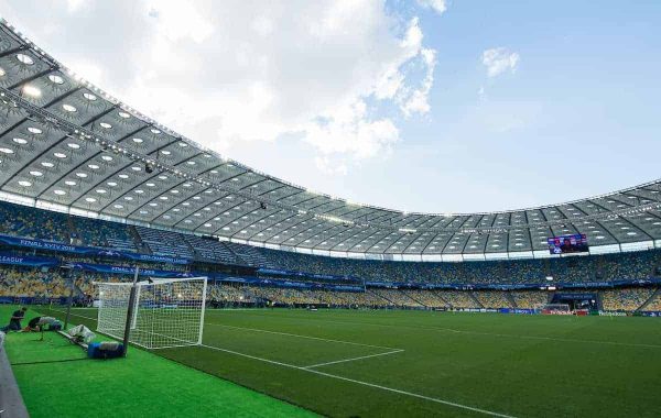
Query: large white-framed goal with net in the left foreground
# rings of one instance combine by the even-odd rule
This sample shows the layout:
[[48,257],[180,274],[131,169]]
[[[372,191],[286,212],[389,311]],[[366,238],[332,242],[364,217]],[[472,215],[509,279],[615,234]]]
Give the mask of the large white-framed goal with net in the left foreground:
[[[97,331],[122,340],[132,283],[97,282]],[[136,283],[130,318],[133,344],[166,349],[202,343],[206,277],[151,279]]]

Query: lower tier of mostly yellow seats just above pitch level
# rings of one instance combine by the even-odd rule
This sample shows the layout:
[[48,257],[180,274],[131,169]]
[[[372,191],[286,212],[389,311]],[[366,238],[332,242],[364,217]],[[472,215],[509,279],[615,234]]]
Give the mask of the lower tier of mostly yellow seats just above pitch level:
[[[91,300],[93,282],[130,280],[130,275],[84,272],[76,274],[74,296]],[[68,296],[68,278],[57,268],[40,270],[0,265],[0,298],[64,298]],[[563,290],[563,293],[567,293]],[[546,304],[553,293],[545,290],[423,290],[368,288],[366,292],[330,292],[247,286],[228,283],[210,284],[207,300],[218,306],[239,306],[272,301],[285,306],[328,306],[408,309],[534,309]],[[661,290],[655,288],[607,289],[599,293],[604,310],[661,310]],[[647,304],[646,304],[647,302]],[[644,309],[642,309],[644,307]]]

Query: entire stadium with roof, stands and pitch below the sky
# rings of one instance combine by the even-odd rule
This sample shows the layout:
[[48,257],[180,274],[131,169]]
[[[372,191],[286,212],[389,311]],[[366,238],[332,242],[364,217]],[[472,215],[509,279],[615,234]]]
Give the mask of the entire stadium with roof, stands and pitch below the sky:
[[2,326],[52,320],[0,334],[0,417],[659,414],[661,180],[355,204],[178,134],[6,20],[0,108]]

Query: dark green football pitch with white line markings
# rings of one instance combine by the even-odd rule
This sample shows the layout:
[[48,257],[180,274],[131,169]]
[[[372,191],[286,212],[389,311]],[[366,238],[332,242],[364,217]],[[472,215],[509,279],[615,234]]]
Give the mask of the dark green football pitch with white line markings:
[[[73,314],[96,329],[95,309]],[[661,410],[657,318],[209,309],[202,346],[153,352],[326,416]]]

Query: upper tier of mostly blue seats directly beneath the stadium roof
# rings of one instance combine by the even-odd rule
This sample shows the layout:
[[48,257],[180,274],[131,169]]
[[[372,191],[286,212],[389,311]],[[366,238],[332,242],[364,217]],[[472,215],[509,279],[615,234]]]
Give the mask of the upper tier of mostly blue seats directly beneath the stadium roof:
[[[386,283],[539,284],[546,282],[549,276],[553,277],[554,283],[594,283],[659,276],[661,267],[659,250],[562,258],[464,263],[338,258],[220,242],[191,234],[79,218],[8,202],[0,202],[0,233],[128,252],[188,257],[206,263],[351,276],[359,280]],[[414,294],[403,298],[398,297],[398,301],[392,302],[403,304],[403,306],[437,304],[433,299],[420,300]],[[476,301],[472,302],[476,304]],[[484,305],[484,302],[488,305],[490,301],[481,300],[477,304]],[[525,300],[521,302],[527,304]]]

